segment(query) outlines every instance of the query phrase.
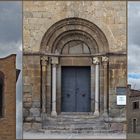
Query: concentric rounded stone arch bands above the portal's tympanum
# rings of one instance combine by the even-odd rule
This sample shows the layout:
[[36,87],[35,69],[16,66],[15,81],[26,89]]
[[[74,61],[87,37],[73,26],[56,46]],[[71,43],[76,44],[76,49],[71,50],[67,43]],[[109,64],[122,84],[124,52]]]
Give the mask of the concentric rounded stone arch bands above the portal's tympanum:
[[94,23],[81,18],[66,18],[53,24],[44,34],[40,52],[61,53],[63,46],[74,39],[78,39],[94,53],[106,53],[109,51],[105,34]]

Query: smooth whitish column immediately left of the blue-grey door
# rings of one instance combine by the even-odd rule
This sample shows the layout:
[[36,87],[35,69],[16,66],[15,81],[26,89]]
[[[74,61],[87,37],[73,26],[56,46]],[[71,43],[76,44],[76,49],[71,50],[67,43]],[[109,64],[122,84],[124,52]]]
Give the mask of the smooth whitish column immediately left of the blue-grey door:
[[58,57],[52,57],[52,116],[57,116],[56,112],[56,65]]

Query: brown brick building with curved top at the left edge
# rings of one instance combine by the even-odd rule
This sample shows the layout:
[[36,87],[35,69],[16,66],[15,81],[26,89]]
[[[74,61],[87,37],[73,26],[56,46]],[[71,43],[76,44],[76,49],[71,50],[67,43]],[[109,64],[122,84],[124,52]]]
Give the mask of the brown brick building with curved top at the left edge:
[[16,55],[0,58],[0,140],[16,139]]

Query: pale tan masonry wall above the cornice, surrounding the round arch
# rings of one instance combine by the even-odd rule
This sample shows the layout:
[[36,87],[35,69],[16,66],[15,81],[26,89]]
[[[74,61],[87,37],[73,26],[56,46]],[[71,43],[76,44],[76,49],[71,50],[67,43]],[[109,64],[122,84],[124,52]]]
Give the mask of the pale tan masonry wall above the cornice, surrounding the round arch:
[[24,51],[40,50],[54,23],[79,17],[96,24],[109,41],[110,52],[126,51],[125,1],[24,1]]

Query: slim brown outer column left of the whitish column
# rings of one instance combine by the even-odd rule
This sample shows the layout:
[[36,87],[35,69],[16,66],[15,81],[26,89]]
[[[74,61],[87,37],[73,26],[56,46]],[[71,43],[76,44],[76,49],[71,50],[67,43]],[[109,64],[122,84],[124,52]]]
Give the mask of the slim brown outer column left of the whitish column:
[[46,113],[46,73],[47,73],[48,57],[41,57],[41,69],[42,69],[42,113]]

